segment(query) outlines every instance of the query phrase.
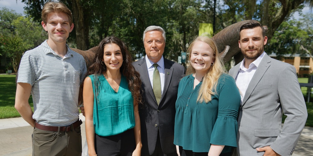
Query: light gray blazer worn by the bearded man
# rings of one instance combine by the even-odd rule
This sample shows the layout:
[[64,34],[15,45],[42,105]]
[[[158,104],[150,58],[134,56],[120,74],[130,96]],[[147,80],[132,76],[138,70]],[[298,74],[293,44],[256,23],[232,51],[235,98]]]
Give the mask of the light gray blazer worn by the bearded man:
[[[240,64],[229,71],[234,79]],[[281,127],[283,113],[287,118]],[[270,146],[280,155],[291,155],[306,119],[306,104],[295,67],[265,53],[240,106],[238,155],[263,155],[256,148],[264,146]]]

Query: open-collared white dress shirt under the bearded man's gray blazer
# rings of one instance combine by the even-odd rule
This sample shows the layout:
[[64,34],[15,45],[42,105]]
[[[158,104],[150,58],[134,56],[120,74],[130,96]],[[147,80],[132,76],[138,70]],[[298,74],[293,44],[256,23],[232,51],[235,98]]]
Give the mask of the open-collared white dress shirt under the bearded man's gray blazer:
[[240,68],[239,68],[240,70],[239,70],[238,75],[236,77],[236,85],[237,85],[239,92],[240,92],[241,103],[243,101],[244,95],[246,94],[248,85],[249,85],[255,71],[257,70],[261,60],[263,59],[264,54],[265,54],[265,51],[263,51],[263,53],[249,65],[248,69],[244,67],[245,59],[243,59],[243,61],[240,64]]

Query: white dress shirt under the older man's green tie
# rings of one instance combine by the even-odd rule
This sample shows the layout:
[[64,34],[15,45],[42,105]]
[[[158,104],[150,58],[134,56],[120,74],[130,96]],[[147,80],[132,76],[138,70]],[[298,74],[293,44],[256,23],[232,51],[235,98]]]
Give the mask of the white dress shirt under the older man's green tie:
[[[150,84],[152,86],[153,89],[153,71],[154,71],[154,62],[150,61],[148,59],[148,56],[145,56],[146,59],[146,63],[147,63],[147,68],[148,68],[148,74],[149,74],[149,79],[150,79]],[[164,58],[163,55],[161,57],[161,59],[157,62],[157,64],[159,65],[157,68],[159,70],[160,73],[160,78],[161,78],[161,93],[163,94],[163,89],[164,89],[164,78],[165,78],[165,68],[164,68]]]

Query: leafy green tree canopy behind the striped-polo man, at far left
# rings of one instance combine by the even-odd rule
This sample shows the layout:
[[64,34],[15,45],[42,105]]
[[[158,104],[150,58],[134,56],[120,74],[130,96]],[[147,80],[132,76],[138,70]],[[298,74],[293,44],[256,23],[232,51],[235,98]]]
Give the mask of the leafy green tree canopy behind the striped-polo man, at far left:
[[13,10],[2,8],[0,15],[0,50],[11,60],[8,68],[16,72],[23,52],[38,46],[47,39],[47,34],[39,23]]

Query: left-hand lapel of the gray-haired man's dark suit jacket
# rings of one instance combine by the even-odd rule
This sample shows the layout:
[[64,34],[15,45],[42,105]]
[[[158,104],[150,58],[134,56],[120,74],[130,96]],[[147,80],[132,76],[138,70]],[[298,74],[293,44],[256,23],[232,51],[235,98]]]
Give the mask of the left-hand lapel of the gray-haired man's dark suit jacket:
[[[153,93],[153,89],[152,89],[152,86],[150,83],[146,59],[145,58],[141,59],[141,61],[139,61],[138,64],[140,65],[140,69],[138,69],[138,71],[140,70],[139,73],[140,73],[142,83],[145,84],[145,87],[146,87],[146,90],[144,90],[144,91],[149,93],[151,95],[151,97],[153,97],[153,100],[154,100],[155,104],[157,105],[157,102],[156,102],[156,99],[155,99],[155,96]],[[162,98],[161,98],[161,100],[162,100]]]

